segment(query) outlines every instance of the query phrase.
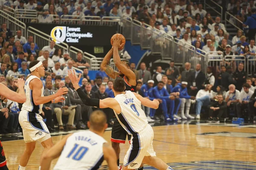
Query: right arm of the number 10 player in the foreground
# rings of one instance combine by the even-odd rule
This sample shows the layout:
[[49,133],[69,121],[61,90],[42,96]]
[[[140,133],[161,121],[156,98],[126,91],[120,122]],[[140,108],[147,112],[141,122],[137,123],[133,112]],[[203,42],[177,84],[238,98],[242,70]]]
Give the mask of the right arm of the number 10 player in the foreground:
[[116,153],[113,150],[113,147],[109,146],[108,143],[103,144],[103,154],[104,154],[104,159],[108,163],[108,169],[109,170],[118,170],[116,166]]

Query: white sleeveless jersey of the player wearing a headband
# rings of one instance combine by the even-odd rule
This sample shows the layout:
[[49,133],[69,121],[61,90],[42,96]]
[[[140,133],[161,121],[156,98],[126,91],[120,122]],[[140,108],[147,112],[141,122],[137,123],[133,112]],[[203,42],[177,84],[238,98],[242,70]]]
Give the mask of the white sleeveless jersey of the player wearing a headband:
[[[26,102],[23,103],[21,110],[26,110],[26,111],[29,111],[29,112],[41,114],[42,113],[43,104],[35,105],[34,100],[33,100],[33,95],[32,95],[33,91],[29,88],[29,82],[32,79],[39,79],[39,78],[36,77],[36,76],[30,76],[26,80],[25,86],[24,86],[25,94],[26,94]],[[41,81],[41,79],[40,79],[40,81]],[[41,88],[41,96],[44,96],[44,85]]]

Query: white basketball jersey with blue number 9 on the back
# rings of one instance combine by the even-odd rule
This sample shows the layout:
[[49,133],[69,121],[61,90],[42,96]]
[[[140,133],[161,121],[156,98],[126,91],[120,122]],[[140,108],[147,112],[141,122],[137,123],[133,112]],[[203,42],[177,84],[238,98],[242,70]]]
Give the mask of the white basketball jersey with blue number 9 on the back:
[[141,102],[131,91],[118,94],[114,98],[121,107],[121,113],[116,118],[122,127],[129,133],[140,133],[148,125],[145,112],[141,108]]

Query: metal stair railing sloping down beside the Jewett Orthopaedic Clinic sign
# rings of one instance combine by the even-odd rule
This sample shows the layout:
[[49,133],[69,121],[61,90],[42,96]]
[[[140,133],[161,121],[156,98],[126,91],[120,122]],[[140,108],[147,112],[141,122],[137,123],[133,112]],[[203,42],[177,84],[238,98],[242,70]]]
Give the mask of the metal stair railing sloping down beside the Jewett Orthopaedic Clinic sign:
[[[47,35],[44,32],[39,31],[38,29],[35,29],[31,26],[27,28],[26,35],[32,36],[34,38],[34,42],[38,45],[40,49],[42,49],[44,46],[49,45],[49,42],[51,40],[57,41],[53,39],[50,35]],[[56,46],[61,49],[62,54],[64,53],[64,51],[69,50],[69,46],[64,42],[59,42],[58,44],[56,43]]]

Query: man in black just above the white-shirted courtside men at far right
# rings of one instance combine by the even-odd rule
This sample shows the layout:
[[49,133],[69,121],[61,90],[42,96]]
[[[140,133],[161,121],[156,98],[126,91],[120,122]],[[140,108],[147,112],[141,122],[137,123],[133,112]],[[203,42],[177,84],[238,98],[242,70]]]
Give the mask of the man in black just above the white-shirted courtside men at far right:
[[236,80],[236,88],[237,89],[242,89],[242,85],[246,82],[247,74],[244,71],[244,63],[240,62],[236,71],[233,74],[233,77]]

